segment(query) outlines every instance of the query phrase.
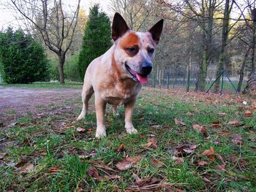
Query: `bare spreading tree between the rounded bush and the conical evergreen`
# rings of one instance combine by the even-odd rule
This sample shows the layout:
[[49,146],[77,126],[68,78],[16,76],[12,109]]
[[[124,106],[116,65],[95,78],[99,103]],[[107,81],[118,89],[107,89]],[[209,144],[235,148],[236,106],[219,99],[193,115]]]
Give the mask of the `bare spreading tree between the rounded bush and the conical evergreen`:
[[[72,45],[75,28],[78,22],[80,0],[77,6],[64,7],[59,0],[11,0],[12,6],[24,23],[36,30],[42,37],[45,45],[56,53],[59,58],[59,80],[64,83],[64,63],[67,51]],[[68,14],[65,9],[70,9]]]

